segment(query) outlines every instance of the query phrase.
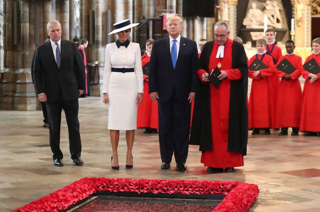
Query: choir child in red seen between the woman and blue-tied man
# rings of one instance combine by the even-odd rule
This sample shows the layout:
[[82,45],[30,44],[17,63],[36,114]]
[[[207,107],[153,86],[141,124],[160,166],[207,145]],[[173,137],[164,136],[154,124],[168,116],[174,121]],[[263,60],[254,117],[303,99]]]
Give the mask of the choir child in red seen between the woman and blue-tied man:
[[[150,55],[154,40],[148,39],[146,42],[146,53],[142,58],[142,67],[149,67]],[[148,68],[147,68],[148,69]],[[157,102],[153,102],[149,95],[148,76],[143,74],[143,102],[138,104],[137,128],[145,127],[144,134],[157,133],[158,128],[158,106]]]

